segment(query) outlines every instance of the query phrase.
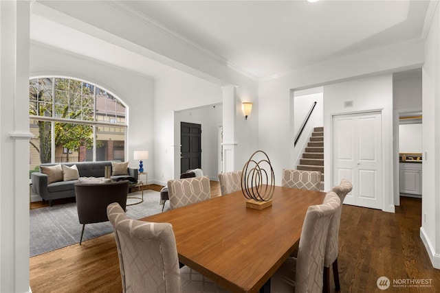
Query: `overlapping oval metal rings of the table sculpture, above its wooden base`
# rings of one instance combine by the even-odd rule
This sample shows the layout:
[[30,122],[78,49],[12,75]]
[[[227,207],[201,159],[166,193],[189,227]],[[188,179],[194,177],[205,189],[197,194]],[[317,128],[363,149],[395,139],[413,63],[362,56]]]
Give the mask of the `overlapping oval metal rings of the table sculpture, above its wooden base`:
[[[263,159],[256,161],[256,157]],[[255,158],[254,158],[255,157]],[[270,170],[267,172],[265,167]],[[269,157],[262,150],[257,150],[245,163],[241,174],[243,196],[257,202],[267,202],[274,196],[275,174]]]

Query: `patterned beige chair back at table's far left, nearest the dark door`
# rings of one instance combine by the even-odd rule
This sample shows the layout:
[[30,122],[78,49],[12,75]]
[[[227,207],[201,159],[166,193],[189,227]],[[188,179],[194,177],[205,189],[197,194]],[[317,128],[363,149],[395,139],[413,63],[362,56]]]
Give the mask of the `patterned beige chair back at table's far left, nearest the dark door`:
[[170,209],[177,209],[211,198],[208,176],[168,180]]

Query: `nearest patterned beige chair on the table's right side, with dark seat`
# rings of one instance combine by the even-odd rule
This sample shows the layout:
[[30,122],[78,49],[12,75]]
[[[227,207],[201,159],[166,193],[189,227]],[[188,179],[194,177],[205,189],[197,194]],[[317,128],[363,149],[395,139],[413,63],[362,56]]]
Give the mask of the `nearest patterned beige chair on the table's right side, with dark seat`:
[[297,257],[289,257],[271,277],[271,292],[316,293],[322,291],[322,268],[329,222],[340,199],[329,191],[322,204],[307,209]]

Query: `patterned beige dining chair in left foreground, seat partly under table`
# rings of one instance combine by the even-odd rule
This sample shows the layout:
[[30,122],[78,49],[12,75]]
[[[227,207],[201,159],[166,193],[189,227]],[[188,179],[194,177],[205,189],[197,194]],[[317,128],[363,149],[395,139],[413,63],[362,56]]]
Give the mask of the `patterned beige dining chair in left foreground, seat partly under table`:
[[127,218],[117,202],[109,204],[107,215],[115,232],[122,292],[227,292],[195,270],[179,268],[171,224]]

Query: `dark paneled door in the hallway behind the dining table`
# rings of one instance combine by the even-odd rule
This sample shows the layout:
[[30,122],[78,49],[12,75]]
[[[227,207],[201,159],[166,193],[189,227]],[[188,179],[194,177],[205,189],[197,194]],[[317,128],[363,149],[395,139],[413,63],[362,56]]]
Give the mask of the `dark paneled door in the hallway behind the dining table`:
[[180,173],[201,168],[201,125],[180,122]]

